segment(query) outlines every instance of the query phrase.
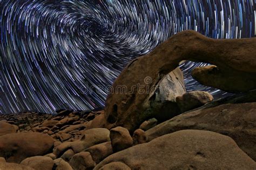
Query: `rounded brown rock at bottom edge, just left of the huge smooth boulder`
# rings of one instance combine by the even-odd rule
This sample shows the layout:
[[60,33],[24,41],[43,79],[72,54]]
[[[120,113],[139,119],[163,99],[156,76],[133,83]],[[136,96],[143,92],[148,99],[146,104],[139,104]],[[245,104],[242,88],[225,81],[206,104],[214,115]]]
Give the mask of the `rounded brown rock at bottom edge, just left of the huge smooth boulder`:
[[69,164],[74,170],[78,169],[93,169],[96,164],[92,160],[90,152],[80,152],[73,155]]

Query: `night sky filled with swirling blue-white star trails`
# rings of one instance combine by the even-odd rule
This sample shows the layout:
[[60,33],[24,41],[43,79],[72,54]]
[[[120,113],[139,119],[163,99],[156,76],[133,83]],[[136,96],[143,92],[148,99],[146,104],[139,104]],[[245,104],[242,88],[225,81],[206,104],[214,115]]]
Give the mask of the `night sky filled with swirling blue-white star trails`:
[[[2,113],[104,106],[106,87],[132,59],[173,34],[196,30],[220,39],[256,34],[255,0],[3,0],[0,7]],[[223,91],[192,79],[188,91]],[[92,90],[87,89],[91,87]]]

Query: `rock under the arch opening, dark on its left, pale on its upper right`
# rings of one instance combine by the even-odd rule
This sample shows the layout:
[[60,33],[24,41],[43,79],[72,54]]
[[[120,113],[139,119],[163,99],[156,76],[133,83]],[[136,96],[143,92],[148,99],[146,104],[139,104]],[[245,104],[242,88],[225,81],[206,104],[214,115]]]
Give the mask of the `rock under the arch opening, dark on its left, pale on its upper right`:
[[181,112],[199,108],[211,101],[213,101],[213,96],[206,91],[191,91],[176,97]]

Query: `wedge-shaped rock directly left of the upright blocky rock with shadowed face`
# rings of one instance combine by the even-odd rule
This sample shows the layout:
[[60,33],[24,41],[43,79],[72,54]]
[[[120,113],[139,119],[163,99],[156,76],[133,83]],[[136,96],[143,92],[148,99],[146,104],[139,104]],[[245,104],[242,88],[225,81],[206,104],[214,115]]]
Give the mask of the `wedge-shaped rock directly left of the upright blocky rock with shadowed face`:
[[98,164],[100,161],[108,157],[113,153],[111,141],[107,141],[102,144],[94,145],[85,150],[85,152],[90,152],[93,161]]

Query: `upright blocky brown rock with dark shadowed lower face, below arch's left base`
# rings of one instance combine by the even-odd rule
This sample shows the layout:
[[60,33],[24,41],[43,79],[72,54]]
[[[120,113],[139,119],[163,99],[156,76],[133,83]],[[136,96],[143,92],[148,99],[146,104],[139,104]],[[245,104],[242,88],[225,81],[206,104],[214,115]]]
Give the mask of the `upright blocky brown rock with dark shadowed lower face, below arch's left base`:
[[113,152],[125,150],[126,148],[131,147],[133,143],[129,131],[120,126],[110,130],[110,139]]

